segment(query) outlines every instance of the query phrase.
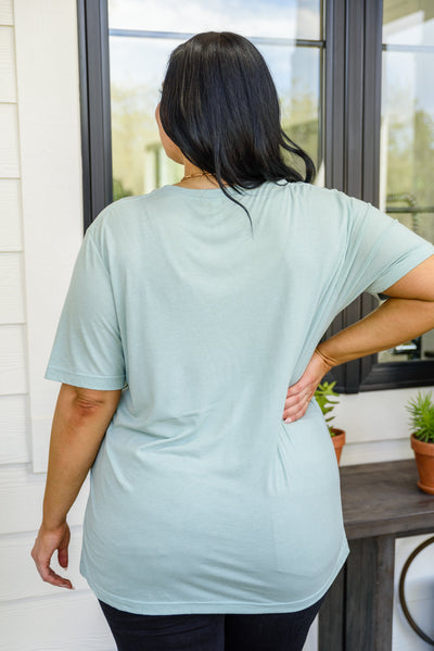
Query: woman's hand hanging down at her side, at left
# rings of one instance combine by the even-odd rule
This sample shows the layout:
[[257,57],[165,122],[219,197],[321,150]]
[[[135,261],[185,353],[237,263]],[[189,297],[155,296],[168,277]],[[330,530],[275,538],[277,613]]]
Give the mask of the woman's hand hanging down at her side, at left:
[[68,564],[68,544],[71,539],[69,527],[66,522],[54,529],[47,529],[42,525],[31,550],[31,558],[42,579],[59,588],[73,589],[73,584],[63,578],[50,567],[51,556],[58,550],[58,560],[61,567]]

